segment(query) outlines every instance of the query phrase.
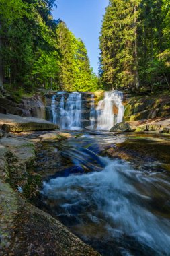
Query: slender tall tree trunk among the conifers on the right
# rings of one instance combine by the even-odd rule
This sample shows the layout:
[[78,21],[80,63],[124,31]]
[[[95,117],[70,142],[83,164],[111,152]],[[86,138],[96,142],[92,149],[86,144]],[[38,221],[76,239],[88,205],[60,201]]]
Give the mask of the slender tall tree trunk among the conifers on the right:
[[138,44],[137,44],[137,16],[136,4],[134,5],[134,62],[135,62],[135,86],[138,90],[140,84],[138,79]]

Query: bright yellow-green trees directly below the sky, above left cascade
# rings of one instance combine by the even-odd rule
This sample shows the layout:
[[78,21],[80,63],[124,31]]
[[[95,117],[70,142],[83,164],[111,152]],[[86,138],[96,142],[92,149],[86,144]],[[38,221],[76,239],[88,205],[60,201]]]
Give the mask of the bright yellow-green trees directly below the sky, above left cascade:
[[90,67],[87,49],[81,39],[75,38],[65,22],[57,28],[59,37],[60,90],[89,91],[97,90],[97,76]]

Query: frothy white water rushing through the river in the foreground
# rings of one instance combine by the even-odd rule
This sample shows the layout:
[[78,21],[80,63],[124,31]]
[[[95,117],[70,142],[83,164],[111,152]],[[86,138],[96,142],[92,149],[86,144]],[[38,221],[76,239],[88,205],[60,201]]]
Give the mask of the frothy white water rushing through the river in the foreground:
[[[102,172],[44,182],[44,195],[60,205],[60,216],[75,216],[78,232],[84,232],[89,240],[97,237],[100,241],[106,238],[126,243],[128,237],[143,250],[148,247],[154,252],[148,251],[148,255],[170,255],[170,222],[154,214],[149,206],[155,191],[159,191],[160,199],[170,197],[169,181],[157,173],[135,171],[126,163],[103,158],[105,161]],[[128,243],[121,250],[122,255],[131,255]]]

